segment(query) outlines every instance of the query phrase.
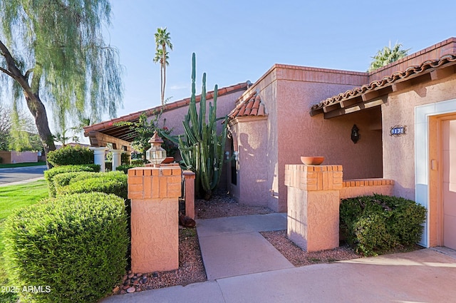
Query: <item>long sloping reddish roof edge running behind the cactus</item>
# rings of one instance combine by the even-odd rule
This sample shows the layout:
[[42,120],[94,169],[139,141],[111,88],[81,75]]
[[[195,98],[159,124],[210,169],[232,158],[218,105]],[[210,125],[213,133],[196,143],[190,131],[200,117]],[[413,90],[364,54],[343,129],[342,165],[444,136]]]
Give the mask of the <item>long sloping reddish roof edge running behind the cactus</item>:
[[[217,89],[217,97],[224,96],[227,93],[233,93],[235,91],[241,91],[244,88],[248,88],[250,85],[252,85],[252,84],[249,81],[246,81],[246,82],[234,84],[232,86],[219,88],[219,89]],[[206,93],[206,98],[207,99],[214,98],[214,91],[207,92]],[[165,106],[163,108],[163,112],[171,111],[171,110],[173,110],[175,108],[181,108],[183,106],[187,106],[187,105],[190,104],[190,100],[191,100],[191,98],[185,98],[185,99],[178,100],[178,101],[175,101],[175,102],[172,102],[172,103],[167,103],[167,104],[165,104]],[[201,101],[201,94],[196,96],[196,101],[197,102]],[[114,119],[111,119],[111,120],[103,121],[103,122],[96,123],[96,124],[93,124],[93,125],[88,125],[88,126],[84,127],[84,133],[88,133],[88,132],[93,131],[93,130],[100,130],[100,129],[112,127],[114,123],[135,120],[135,119],[139,118],[139,116],[142,113],[145,113],[147,116],[154,115],[155,113],[159,112],[161,109],[162,109],[162,106],[155,106],[154,108],[149,108],[149,109],[145,109],[145,110],[142,110],[142,111],[137,111],[135,113],[130,113],[128,115],[123,115],[123,116],[120,116],[118,118],[114,118]]]

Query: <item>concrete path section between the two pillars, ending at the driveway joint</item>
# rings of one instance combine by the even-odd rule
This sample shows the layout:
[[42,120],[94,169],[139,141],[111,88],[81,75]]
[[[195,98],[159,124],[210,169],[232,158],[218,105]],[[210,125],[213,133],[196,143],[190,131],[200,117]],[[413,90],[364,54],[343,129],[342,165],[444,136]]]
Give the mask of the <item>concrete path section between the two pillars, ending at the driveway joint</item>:
[[285,214],[197,220],[207,279],[294,267],[259,232],[286,230]]

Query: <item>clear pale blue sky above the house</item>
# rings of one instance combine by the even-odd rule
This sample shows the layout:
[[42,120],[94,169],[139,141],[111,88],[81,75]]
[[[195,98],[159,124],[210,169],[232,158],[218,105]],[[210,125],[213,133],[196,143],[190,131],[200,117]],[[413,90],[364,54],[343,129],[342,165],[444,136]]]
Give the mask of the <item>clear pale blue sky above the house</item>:
[[157,27],[173,51],[165,98],[190,96],[192,52],[197,88],[257,81],[274,63],[366,71],[389,41],[409,53],[456,36],[456,1],[147,1],[113,0],[106,41],[125,67],[124,108],[160,105],[160,65],[152,62]]

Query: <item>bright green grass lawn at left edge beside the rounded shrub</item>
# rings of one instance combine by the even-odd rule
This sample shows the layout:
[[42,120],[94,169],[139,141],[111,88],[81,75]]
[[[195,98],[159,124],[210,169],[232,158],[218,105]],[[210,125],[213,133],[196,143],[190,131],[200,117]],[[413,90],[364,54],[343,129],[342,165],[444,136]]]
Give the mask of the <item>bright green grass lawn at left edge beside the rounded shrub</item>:
[[[0,230],[3,230],[6,217],[14,210],[33,205],[44,197],[48,197],[48,185],[45,180],[0,187]],[[9,285],[6,278],[3,251],[3,238],[0,233],[0,287],[14,286]],[[16,300],[15,294],[0,293],[1,303],[16,302]]]

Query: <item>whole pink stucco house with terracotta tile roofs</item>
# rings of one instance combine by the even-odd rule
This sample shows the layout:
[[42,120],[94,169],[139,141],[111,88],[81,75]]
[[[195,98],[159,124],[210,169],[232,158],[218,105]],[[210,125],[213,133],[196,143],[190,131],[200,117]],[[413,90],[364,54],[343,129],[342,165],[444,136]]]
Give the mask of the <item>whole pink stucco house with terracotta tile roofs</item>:
[[[224,185],[239,202],[285,212],[285,165],[321,155],[323,164],[342,165],[344,180],[392,180],[393,195],[427,207],[420,244],[456,249],[455,66],[449,38],[369,73],[276,64],[253,84],[222,88],[218,115],[229,115],[229,125],[220,127],[229,128],[227,152],[237,155]],[[174,134],[189,101],[165,108]],[[85,134],[93,146],[128,150],[128,130],[113,123],[139,115]]]

